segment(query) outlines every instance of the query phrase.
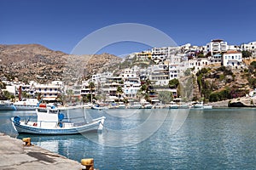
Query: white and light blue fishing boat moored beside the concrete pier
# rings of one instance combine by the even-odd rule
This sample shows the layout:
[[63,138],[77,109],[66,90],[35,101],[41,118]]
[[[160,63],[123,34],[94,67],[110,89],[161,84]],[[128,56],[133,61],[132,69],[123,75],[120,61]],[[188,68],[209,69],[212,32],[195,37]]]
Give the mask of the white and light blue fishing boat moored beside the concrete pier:
[[[70,117],[83,112],[84,116]],[[40,105],[36,108],[38,119],[35,122],[26,119],[20,120],[20,116],[11,118],[13,127],[18,133],[34,133],[34,134],[76,134],[87,133],[92,131],[102,131],[103,123],[106,117],[102,116],[92,119],[90,122],[86,118],[85,109],[81,107],[46,107]],[[71,114],[70,114],[71,113]],[[79,119],[79,121],[74,121]]]

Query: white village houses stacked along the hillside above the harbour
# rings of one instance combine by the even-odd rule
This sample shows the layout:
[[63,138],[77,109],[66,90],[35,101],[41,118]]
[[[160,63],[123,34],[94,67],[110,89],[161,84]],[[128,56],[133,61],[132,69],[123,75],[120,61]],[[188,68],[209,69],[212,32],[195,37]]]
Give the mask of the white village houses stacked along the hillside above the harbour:
[[[82,84],[75,84],[73,87],[67,87],[61,81],[50,84],[38,84],[32,81],[29,84],[4,80],[3,82],[7,84],[6,90],[13,94],[17,94],[18,88],[21,86],[22,91],[31,95],[40,93],[44,99],[49,101],[56,99],[61,93],[67,93],[68,89],[72,90],[73,98],[77,99],[82,99],[88,94],[104,94],[108,101],[124,98],[136,99],[137,92],[144,80],[148,79],[152,82],[151,86],[157,92],[163,90],[160,87],[166,87],[170,80],[183,77],[184,72],[188,69],[195,74],[204,67],[216,65],[244,68],[241,51],[250,51],[253,57],[256,57],[255,48],[256,42],[237,46],[229,45],[228,42],[221,39],[212,40],[205,46],[191,46],[188,43],[178,47],[151,48],[147,51],[130,54],[127,59],[152,60],[154,65],[148,65],[147,68],[134,65],[120,71],[121,74],[118,76],[108,71],[98,73],[92,75],[90,80],[83,81]],[[90,82],[95,84],[93,91],[89,87]],[[118,94],[118,87],[122,88],[122,94]],[[176,89],[167,90],[172,94],[177,94]],[[157,93],[150,94],[150,97],[157,100]]]

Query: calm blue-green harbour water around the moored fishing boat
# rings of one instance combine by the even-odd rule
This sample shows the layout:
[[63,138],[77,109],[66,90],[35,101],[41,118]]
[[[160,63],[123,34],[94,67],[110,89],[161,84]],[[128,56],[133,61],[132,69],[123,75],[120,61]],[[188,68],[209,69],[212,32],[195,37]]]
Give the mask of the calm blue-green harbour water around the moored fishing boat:
[[[87,112],[107,117],[102,133],[17,138],[76,161],[92,157],[99,169],[256,169],[254,109]],[[34,111],[1,111],[0,132],[15,135],[9,118],[17,115],[36,118]]]

